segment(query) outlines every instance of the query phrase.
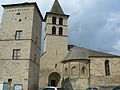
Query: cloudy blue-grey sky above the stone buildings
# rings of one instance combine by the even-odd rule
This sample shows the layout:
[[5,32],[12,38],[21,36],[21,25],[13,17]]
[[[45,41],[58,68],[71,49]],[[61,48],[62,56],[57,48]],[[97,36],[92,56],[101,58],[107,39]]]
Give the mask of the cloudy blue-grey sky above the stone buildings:
[[[1,4],[37,2],[42,15],[54,0],[0,0]],[[59,0],[69,18],[69,44],[120,55],[120,0]],[[0,19],[3,8],[0,7]]]

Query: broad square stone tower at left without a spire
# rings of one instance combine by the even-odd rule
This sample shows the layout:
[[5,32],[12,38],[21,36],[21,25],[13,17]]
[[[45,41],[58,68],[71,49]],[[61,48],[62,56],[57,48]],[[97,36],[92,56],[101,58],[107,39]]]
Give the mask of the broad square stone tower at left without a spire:
[[[42,16],[36,3],[2,6],[4,12],[0,30],[0,82],[10,80],[11,90],[16,84],[22,85],[23,90],[37,90]],[[19,39],[15,39],[16,31],[21,31]],[[13,59],[14,49],[20,50],[19,59]]]

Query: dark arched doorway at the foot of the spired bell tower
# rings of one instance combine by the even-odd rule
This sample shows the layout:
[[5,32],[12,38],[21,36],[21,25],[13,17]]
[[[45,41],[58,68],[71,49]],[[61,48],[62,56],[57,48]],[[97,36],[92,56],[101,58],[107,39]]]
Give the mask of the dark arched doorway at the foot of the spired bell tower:
[[60,82],[60,74],[57,72],[52,72],[48,77],[48,86],[58,86],[58,83]]

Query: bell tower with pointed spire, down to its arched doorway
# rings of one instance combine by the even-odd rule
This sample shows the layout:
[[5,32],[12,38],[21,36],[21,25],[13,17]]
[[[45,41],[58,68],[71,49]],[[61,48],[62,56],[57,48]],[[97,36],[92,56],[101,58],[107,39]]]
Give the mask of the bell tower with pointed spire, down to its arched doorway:
[[61,61],[68,53],[68,17],[58,0],[55,0],[51,11],[45,15],[44,53],[40,57],[39,87],[61,87]]

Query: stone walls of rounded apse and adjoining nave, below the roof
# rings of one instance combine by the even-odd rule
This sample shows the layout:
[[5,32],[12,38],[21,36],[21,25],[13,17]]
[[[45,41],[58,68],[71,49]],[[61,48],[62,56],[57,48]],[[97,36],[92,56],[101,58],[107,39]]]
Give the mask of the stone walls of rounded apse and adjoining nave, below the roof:
[[[105,74],[105,60],[110,61],[110,75]],[[70,60],[63,62],[64,87],[69,90],[85,90],[87,87],[96,87],[100,90],[107,90],[102,87],[120,86],[120,58],[119,57],[92,57],[88,60]],[[73,67],[76,67],[72,71]],[[83,73],[82,67],[86,70]],[[66,75],[66,68],[68,69]],[[74,75],[72,75],[72,73]],[[108,88],[112,90],[112,88]]]

